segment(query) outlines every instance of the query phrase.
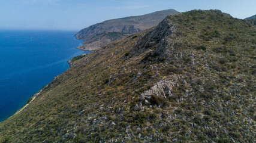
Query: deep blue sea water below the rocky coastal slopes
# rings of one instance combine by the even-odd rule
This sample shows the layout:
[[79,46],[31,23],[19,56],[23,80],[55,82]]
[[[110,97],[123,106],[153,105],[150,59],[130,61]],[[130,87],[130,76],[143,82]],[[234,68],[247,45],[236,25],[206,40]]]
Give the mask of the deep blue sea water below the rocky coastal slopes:
[[0,122],[68,69],[73,57],[88,53],[75,47],[75,32],[0,30]]

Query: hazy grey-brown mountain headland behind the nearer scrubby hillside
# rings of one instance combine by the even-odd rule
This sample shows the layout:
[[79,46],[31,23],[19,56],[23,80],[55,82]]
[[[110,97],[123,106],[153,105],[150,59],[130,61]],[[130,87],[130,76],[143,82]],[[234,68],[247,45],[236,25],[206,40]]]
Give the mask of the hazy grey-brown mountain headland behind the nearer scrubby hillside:
[[155,13],[106,20],[80,30],[76,38],[82,41],[83,46],[78,49],[94,50],[107,43],[125,38],[133,33],[156,26],[167,15],[179,13],[176,10],[156,11]]

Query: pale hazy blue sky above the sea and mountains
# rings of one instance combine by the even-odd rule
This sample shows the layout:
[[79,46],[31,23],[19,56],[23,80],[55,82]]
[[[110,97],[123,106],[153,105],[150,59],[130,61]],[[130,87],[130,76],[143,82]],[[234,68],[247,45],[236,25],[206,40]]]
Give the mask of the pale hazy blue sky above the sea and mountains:
[[74,30],[113,18],[174,9],[256,14],[256,0],[0,0],[0,29]]

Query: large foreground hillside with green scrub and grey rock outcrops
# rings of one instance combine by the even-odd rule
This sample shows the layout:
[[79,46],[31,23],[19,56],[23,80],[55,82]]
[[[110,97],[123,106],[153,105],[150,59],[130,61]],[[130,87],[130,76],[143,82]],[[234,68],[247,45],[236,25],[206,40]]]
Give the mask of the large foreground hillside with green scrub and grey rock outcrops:
[[169,15],[74,60],[0,142],[254,142],[255,35],[219,10]]

